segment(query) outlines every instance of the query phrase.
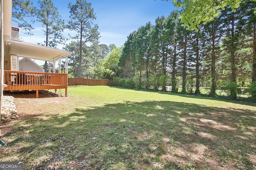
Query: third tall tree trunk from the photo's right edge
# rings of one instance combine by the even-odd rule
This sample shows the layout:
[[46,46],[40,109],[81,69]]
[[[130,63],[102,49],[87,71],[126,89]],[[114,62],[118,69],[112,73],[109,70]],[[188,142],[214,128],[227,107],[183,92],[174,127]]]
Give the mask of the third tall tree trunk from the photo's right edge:
[[[212,24],[213,28],[213,24]],[[211,61],[211,90],[210,90],[210,96],[213,96],[216,94],[216,74],[215,74],[215,62],[216,62],[216,57],[215,57],[215,30],[212,29],[212,61]]]

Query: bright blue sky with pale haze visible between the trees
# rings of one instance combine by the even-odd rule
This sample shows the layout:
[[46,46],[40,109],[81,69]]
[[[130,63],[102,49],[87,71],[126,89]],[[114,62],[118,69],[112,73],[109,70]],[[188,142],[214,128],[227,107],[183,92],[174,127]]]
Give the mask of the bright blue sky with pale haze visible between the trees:
[[[31,0],[33,6],[38,5],[38,0]],[[76,0],[52,0],[54,6],[58,8],[62,19],[69,20],[68,4],[76,3]],[[124,44],[127,36],[132,31],[146,25],[147,22],[155,23],[158,16],[167,17],[176,7],[172,0],[168,2],[162,0],[87,0],[92,4],[100,32],[100,44],[109,45],[110,43],[120,47]],[[34,35],[28,37],[20,31],[20,38],[30,43],[40,43],[45,40],[42,33],[42,24],[34,23]],[[68,29],[64,30],[64,35],[72,34]],[[62,47],[59,47],[60,49]]]

